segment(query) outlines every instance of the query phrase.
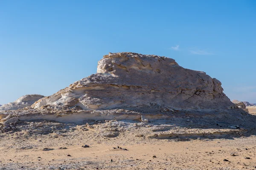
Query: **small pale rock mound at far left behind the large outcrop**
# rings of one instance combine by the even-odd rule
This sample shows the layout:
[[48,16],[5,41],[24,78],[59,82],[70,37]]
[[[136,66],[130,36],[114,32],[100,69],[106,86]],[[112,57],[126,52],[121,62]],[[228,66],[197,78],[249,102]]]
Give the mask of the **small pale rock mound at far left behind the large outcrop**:
[[16,101],[0,106],[0,110],[16,110],[24,107],[30,107],[35,101],[43,98],[43,95],[24,95]]

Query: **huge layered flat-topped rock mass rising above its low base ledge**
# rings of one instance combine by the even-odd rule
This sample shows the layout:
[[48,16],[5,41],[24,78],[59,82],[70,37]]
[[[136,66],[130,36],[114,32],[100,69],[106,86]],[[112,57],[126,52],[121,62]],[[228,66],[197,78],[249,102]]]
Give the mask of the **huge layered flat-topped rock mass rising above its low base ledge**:
[[223,93],[221,82],[205,72],[184,69],[172,58],[121,52],[105,55],[96,74],[41,98],[32,107],[175,111],[236,106]]

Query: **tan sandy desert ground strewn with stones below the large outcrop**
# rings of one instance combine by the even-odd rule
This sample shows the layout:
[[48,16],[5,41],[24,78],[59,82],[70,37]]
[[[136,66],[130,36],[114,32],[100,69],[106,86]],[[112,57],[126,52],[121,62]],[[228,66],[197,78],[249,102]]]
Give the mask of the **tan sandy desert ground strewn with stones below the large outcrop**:
[[22,122],[0,134],[0,170],[256,170],[253,134],[157,139],[142,135],[150,124],[122,124]]

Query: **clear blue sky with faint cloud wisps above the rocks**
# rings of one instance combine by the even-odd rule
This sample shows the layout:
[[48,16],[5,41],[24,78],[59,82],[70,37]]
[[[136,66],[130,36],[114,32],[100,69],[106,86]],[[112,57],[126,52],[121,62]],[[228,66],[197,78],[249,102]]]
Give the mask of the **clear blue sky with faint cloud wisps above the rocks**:
[[255,0],[2,0],[0,104],[52,95],[108,52],[173,58],[256,103]]

